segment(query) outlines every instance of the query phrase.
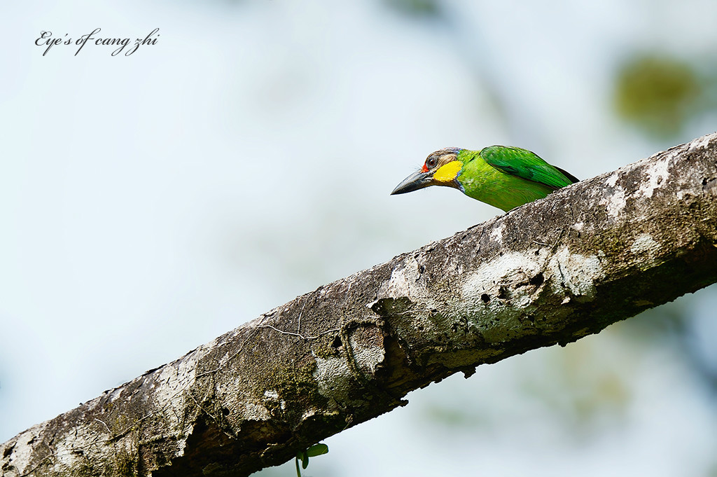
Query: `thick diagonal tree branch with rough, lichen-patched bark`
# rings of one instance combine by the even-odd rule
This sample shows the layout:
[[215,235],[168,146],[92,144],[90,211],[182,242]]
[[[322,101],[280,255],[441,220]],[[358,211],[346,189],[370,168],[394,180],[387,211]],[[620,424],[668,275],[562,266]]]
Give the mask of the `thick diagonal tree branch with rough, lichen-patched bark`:
[[717,133],[322,286],[0,445],[2,475],[247,475],[407,392],[717,281]]

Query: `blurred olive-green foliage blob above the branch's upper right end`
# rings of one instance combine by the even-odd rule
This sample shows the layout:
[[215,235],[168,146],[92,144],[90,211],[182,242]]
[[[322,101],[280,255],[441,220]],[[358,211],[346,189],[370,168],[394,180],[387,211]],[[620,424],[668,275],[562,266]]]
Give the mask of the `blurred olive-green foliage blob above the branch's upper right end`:
[[655,138],[672,139],[709,108],[706,84],[688,62],[635,55],[617,71],[614,106],[620,118]]

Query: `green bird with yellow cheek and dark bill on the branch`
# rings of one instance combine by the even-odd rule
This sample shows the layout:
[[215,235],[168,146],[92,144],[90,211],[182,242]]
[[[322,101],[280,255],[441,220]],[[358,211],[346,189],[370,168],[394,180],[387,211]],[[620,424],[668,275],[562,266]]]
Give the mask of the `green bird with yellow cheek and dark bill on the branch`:
[[577,181],[575,176],[526,149],[445,148],[430,154],[421,170],[404,179],[391,195],[427,186],[455,187],[468,197],[508,212]]

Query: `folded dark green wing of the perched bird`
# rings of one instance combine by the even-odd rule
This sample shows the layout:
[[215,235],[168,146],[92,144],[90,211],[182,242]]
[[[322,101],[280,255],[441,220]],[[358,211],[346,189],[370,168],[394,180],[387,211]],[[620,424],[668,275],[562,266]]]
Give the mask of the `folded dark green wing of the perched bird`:
[[578,181],[575,176],[563,169],[551,166],[537,154],[526,149],[490,146],[480,151],[480,157],[505,174],[545,184],[554,189],[560,189]]

